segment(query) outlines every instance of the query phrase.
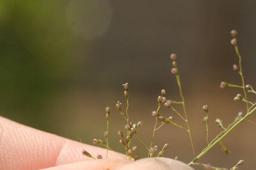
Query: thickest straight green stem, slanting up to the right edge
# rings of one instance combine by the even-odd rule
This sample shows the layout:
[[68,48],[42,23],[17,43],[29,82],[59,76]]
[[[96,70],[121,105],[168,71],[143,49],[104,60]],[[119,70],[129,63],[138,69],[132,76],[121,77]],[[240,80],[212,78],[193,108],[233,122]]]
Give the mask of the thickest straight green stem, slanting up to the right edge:
[[202,156],[204,156],[205,153],[207,153],[213,146],[215,146],[215,144],[217,144],[218,142],[220,142],[225,136],[227,136],[236,126],[238,126],[241,122],[244,122],[244,120],[247,119],[248,116],[250,116],[254,111],[256,111],[256,108],[253,108],[252,111],[250,111],[249,113],[247,113],[242,119],[240,119],[238,122],[236,122],[235,125],[233,125],[232,127],[230,127],[229,130],[227,130],[226,133],[224,133],[219,139],[217,139],[215,142],[213,142],[211,145],[209,145],[209,147],[207,147],[207,149],[205,149],[202,153],[200,153],[198,156],[195,157],[195,159],[193,159],[188,165],[192,165],[193,163],[195,163],[195,161],[197,161],[198,159],[200,159]]

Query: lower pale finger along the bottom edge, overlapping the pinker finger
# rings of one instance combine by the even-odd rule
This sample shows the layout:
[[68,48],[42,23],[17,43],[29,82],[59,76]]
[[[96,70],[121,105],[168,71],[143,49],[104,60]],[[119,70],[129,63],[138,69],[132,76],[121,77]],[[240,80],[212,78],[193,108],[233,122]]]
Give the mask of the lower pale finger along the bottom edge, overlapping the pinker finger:
[[101,159],[50,167],[44,170],[194,170],[187,164],[169,158],[145,158],[138,161]]

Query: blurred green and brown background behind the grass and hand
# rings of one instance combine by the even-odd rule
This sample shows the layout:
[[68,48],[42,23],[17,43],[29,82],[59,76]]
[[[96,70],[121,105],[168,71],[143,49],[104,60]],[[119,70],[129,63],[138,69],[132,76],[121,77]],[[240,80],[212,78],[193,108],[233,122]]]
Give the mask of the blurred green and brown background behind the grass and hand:
[[[209,105],[210,139],[220,131],[216,118],[227,125],[245,109],[244,103],[233,102],[240,89],[218,88],[221,81],[241,84],[232,69],[238,58],[230,45],[231,29],[239,32],[245,81],[256,84],[255,7],[250,0],[1,0],[0,115],[73,140],[80,136],[90,144],[104,138],[105,108],[110,106],[110,145],[122,151],[116,132],[125,121],[114,106],[121,101],[125,107],[121,84],[129,82],[131,120],[143,120],[138,133],[150,144],[151,112],[160,90],[180,100],[169,59],[177,53],[199,153],[206,145],[203,105]],[[172,111],[160,112],[183,125]],[[255,129],[244,122],[223,140],[229,156],[218,145],[198,162],[232,167],[244,159],[241,169],[254,167]],[[134,141],[145,156],[143,145]],[[164,143],[170,144],[166,157],[193,158],[183,130],[163,126],[154,144]]]

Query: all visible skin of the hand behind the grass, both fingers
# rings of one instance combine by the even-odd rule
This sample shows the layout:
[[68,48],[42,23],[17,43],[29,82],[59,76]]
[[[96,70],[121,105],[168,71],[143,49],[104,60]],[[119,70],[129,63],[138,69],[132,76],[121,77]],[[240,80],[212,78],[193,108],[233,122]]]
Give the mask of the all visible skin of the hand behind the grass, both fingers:
[[94,160],[83,156],[83,149],[93,156],[101,153],[105,157],[103,148],[81,144],[0,117],[0,170],[193,170],[173,159],[128,161],[112,151],[109,151],[108,159]]

